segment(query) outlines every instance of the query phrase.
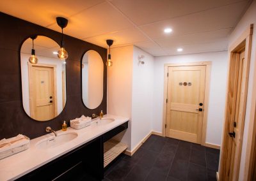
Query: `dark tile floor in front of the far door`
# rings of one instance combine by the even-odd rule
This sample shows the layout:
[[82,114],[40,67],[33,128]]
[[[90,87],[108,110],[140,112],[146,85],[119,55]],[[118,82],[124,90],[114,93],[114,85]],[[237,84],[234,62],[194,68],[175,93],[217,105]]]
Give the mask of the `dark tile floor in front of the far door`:
[[104,181],[216,180],[220,150],[152,135],[132,156],[120,156]]

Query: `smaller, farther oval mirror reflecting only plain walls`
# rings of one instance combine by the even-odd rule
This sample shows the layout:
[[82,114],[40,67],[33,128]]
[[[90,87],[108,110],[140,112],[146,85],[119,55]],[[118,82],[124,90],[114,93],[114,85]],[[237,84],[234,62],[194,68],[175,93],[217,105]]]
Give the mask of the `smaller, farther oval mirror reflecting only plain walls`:
[[104,64],[100,54],[87,51],[82,60],[83,103],[89,109],[97,108],[103,98]]

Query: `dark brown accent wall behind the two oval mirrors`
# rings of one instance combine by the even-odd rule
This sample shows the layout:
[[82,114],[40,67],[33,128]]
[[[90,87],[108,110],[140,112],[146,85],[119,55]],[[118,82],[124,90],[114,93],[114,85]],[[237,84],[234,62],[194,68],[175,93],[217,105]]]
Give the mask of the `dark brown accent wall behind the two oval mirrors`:
[[[22,89],[20,76],[20,47],[29,36],[38,34],[47,36],[60,44],[61,33],[40,25],[12,17],[0,12],[0,139],[10,138],[17,134],[25,134],[36,138],[46,134],[45,127],[61,129],[63,120],[81,115],[92,116],[92,113],[107,112],[107,68],[104,66],[104,95],[98,108],[90,110],[83,105],[81,93],[81,59],[88,50],[97,51],[104,65],[106,64],[106,48],[93,45],[83,40],[64,36],[66,60],[67,102],[63,112],[55,119],[38,122],[31,119],[22,106]],[[64,31],[65,33],[65,31]]]

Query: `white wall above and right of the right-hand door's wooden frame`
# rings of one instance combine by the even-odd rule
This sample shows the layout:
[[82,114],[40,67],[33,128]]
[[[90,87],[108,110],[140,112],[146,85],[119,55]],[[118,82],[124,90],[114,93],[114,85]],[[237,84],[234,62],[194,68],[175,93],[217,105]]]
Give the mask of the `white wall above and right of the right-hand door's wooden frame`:
[[251,61],[250,61],[250,73],[249,73],[249,82],[248,82],[248,96],[247,96],[247,103],[246,103],[246,115],[245,115],[245,123],[244,123],[244,137],[243,137],[243,146],[242,146],[242,153],[241,153],[241,164],[240,164],[240,171],[239,171],[239,180],[243,180],[244,175],[244,164],[245,164],[245,157],[246,157],[246,146],[248,141],[248,128],[249,128],[249,121],[250,121],[250,108],[252,104],[255,104],[255,99],[252,99],[252,91],[253,86],[255,86],[256,82],[253,82],[253,75],[255,74],[255,61],[256,61],[256,1],[253,1],[251,6],[248,8],[244,16],[241,18],[239,23],[236,25],[236,28],[230,35],[229,44],[232,44],[239,37],[245,29],[249,27],[250,24],[254,24],[253,28],[253,40],[252,40],[252,52],[251,52]]

